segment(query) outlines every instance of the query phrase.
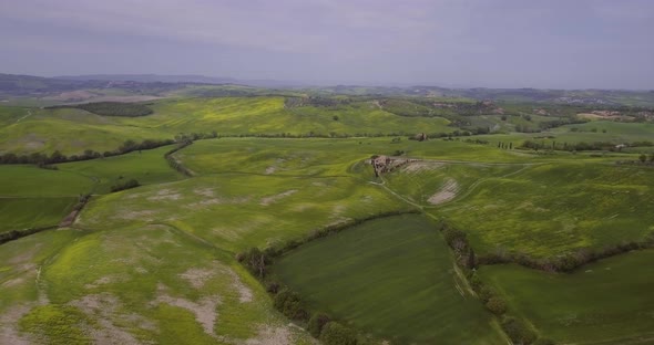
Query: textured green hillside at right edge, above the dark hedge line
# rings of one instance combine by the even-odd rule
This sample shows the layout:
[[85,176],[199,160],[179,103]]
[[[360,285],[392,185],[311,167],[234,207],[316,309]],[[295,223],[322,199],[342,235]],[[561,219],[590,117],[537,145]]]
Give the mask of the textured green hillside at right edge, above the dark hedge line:
[[487,176],[432,212],[466,231],[479,253],[544,259],[652,233],[652,178],[653,169],[638,166],[525,166],[511,176]]

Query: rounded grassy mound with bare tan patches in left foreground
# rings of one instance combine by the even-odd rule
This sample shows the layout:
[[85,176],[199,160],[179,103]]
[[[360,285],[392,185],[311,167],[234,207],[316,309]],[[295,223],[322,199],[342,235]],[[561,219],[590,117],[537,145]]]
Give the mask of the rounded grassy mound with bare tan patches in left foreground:
[[[88,232],[70,242],[43,268],[41,291],[51,305],[72,305],[113,336],[122,334],[117,328],[160,344],[215,344],[216,335],[229,342],[260,341],[263,328],[285,326],[263,289],[242,274],[232,255],[182,231],[132,226]],[[43,311],[32,312],[43,320]],[[211,322],[208,315],[217,317]],[[306,335],[287,331],[289,342],[306,343]]]

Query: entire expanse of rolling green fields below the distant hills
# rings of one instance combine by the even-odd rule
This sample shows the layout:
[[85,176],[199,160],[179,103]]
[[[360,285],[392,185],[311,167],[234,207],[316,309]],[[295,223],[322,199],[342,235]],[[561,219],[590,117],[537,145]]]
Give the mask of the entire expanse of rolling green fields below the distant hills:
[[[307,91],[193,86],[143,103],[153,113],[137,117],[0,106],[0,155],[70,156],[112,151],[126,140],[216,136],[172,155],[190,176],[164,157],[176,145],[47,168],[1,165],[0,233],[53,229],[0,245],[0,343],[316,344],[307,325],[275,310],[238,253],[413,211],[421,215],[369,220],[304,243],[278,258],[273,273],[311,311],[328,313],[369,344],[507,344],[502,317],[469,288],[439,221],[464,232],[478,257],[543,260],[654,233],[654,169],[616,164],[637,161],[651,147],[517,149],[524,140],[545,147],[652,140],[651,123],[594,121],[517,133],[573,119],[578,108],[502,103],[510,114],[503,119],[500,112],[431,106],[478,106],[469,98],[382,100],[366,95],[372,91],[309,97]],[[474,128],[495,134],[409,139]],[[375,155],[402,165],[375,177]],[[132,179],[141,186],[111,192]],[[84,195],[91,199],[74,222],[57,228]],[[514,264],[482,264],[477,274],[498,291],[508,315],[544,338],[647,343],[652,260],[642,250],[569,274]]]

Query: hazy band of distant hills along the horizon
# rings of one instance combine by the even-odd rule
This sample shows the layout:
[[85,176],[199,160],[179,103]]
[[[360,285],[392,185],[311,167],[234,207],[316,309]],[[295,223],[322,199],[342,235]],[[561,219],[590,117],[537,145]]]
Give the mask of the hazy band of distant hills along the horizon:
[[[626,105],[654,107],[654,91],[629,90],[540,90],[540,88],[454,88],[440,86],[307,86],[273,80],[236,80],[204,75],[90,74],[41,77],[0,74],[0,95],[47,96],[70,91],[121,88],[135,94],[161,95],[185,85],[246,85],[294,90],[317,95],[436,96],[511,103],[558,103],[573,105]],[[222,87],[222,86],[219,86]],[[212,95],[211,91],[204,91]],[[233,92],[233,91],[231,91]],[[223,92],[224,93],[224,92]],[[265,93],[265,92],[264,92]],[[221,94],[219,92],[217,94]]]

